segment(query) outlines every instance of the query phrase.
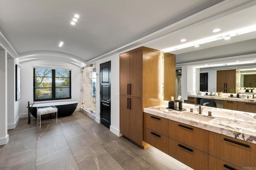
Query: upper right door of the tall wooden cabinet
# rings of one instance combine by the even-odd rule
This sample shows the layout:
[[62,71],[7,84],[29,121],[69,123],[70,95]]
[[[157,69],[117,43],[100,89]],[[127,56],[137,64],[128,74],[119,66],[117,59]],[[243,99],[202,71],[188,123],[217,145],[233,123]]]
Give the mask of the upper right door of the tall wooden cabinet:
[[130,54],[130,94],[140,98],[142,95],[142,50]]

